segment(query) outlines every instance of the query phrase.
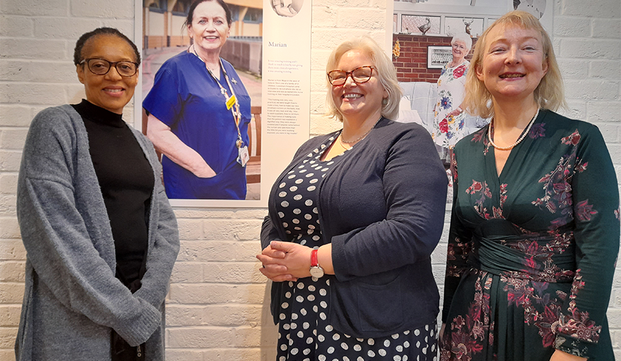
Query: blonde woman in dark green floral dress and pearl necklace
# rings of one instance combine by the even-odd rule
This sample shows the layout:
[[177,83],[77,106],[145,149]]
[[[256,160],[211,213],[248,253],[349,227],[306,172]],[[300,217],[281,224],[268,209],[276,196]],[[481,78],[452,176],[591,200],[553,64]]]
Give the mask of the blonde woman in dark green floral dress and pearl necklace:
[[464,103],[493,118],[454,149],[442,360],[614,359],[617,179],[598,128],[553,112],[562,88],[531,14],[479,39]]

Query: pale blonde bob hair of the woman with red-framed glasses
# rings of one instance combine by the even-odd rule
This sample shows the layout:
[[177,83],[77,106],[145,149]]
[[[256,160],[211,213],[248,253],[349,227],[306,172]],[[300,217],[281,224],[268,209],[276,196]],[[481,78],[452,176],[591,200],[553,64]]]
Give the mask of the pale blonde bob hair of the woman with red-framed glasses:
[[[388,97],[382,101],[382,116],[388,119],[396,119],[399,114],[399,102],[401,101],[402,90],[397,81],[397,70],[390,58],[386,55],[386,52],[380,45],[371,39],[370,37],[356,37],[344,41],[330,54],[328,57],[328,65],[326,65],[326,74],[332,70],[337,70],[336,65],[341,60],[343,54],[350,50],[359,50],[366,54],[373,64],[373,76],[377,76],[380,80],[380,84],[384,87],[384,90],[388,92]],[[328,84],[328,96],[326,97],[326,107],[328,108],[326,115],[337,118],[339,121],[343,121],[343,114],[339,112],[334,99],[332,98],[332,87],[326,76],[326,83]],[[343,86],[343,85],[339,85]]]

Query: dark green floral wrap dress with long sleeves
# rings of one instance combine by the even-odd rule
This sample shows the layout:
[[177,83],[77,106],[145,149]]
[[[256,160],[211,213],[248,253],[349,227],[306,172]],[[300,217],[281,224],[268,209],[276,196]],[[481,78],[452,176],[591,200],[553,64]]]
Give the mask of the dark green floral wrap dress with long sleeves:
[[619,193],[602,135],[542,110],[497,176],[488,127],[455,146],[441,360],[614,360]]

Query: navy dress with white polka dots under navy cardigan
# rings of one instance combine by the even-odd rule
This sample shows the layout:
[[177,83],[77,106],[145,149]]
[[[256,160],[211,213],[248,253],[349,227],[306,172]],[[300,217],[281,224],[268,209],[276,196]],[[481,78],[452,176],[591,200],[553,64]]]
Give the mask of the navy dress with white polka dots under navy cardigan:
[[[319,229],[317,189],[328,171],[348,156],[344,152],[330,161],[319,160],[334,139],[326,139],[303,158],[279,180],[277,188],[277,212],[286,234],[293,242],[308,247],[326,243]],[[437,360],[435,322],[384,338],[354,338],[335,330],[328,323],[330,285],[335,280],[335,276],[326,275],[284,285],[277,361]]]

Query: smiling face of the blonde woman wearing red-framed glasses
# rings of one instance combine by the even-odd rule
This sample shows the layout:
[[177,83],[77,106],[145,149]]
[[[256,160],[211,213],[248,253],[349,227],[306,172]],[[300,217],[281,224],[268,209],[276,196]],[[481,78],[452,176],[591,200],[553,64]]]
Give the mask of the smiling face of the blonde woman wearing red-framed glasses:
[[[349,50],[341,56],[334,70],[351,72],[361,66],[374,65],[371,57],[360,50]],[[345,120],[366,121],[373,118],[376,121],[382,113],[382,99],[388,96],[377,70],[373,70],[371,79],[357,84],[348,76],[343,85],[332,85],[332,98],[337,110]]]

